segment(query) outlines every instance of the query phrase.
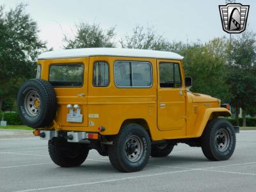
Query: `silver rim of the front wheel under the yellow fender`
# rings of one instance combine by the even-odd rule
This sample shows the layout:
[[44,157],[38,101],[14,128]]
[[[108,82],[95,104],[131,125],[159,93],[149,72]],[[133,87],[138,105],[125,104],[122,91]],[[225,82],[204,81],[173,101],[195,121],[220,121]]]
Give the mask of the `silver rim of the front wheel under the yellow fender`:
[[220,152],[227,150],[227,148],[229,147],[230,136],[225,129],[220,129],[217,131],[215,137],[215,145]]

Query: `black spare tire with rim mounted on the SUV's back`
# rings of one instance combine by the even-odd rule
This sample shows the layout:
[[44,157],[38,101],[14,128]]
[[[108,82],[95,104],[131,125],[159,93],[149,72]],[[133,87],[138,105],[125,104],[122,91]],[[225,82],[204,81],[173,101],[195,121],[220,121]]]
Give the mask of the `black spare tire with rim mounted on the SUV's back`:
[[17,108],[20,119],[29,127],[52,124],[56,116],[57,99],[51,83],[42,79],[29,79],[18,92]]

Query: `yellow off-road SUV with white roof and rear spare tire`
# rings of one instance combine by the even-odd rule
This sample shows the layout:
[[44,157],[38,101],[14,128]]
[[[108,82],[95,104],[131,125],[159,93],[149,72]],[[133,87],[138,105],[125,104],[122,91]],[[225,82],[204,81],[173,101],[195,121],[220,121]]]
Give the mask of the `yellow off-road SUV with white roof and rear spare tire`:
[[20,118],[49,140],[52,161],[63,167],[79,166],[94,148],[117,170],[136,172],[177,143],[226,160],[239,127],[219,118],[231,115],[219,99],[189,91],[182,58],[116,48],[44,52],[36,79],[20,87]]

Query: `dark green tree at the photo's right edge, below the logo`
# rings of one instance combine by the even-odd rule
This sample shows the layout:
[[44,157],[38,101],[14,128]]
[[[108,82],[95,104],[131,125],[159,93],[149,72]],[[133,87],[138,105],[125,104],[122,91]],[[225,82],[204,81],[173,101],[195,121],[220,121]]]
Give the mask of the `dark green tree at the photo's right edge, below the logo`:
[[233,95],[238,123],[239,108],[243,109],[243,126],[246,126],[246,111],[256,104],[256,34],[244,32],[232,40],[227,49],[228,84]]

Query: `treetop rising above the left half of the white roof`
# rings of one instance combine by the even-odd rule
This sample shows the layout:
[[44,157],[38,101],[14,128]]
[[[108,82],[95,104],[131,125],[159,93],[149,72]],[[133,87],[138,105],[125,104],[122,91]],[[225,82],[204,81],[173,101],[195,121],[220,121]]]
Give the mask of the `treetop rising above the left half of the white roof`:
[[113,37],[115,28],[106,31],[99,24],[85,24],[81,22],[76,26],[74,38],[64,35],[63,42],[67,45],[64,49],[86,48],[86,47],[115,47]]

